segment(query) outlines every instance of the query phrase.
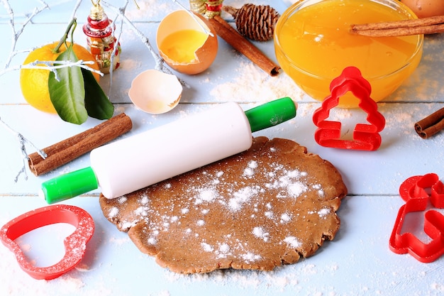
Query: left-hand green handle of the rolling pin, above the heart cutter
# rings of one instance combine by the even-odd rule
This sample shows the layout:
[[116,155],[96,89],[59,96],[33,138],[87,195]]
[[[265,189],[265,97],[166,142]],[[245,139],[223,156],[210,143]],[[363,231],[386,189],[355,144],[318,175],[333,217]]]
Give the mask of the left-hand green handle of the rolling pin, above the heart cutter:
[[96,174],[91,167],[88,167],[43,182],[39,195],[48,204],[54,204],[97,188],[99,188],[99,182]]

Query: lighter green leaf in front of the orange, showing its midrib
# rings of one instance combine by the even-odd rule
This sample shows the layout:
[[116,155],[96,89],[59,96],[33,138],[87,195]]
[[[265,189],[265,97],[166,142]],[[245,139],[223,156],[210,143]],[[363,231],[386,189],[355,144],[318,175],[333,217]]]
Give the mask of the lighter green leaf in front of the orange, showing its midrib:
[[[72,45],[61,53],[57,60],[77,62],[78,59],[72,50]],[[88,113],[84,106],[85,88],[82,70],[76,66],[62,67],[56,71],[60,81],[55,79],[55,74],[51,71],[48,87],[50,99],[57,114],[64,121],[83,124],[88,119]]]

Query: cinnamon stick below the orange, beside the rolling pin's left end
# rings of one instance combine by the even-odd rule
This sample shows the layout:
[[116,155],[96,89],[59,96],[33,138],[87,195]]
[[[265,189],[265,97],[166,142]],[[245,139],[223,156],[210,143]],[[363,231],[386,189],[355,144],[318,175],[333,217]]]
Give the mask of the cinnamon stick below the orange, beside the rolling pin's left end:
[[94,128],[43,148],[46,158],[42,158],[37,152],[31,153],[28,155],[30,171],[36,176],[50,172],[121,136],[132,127],[133,123],[126,114],[114,116]]

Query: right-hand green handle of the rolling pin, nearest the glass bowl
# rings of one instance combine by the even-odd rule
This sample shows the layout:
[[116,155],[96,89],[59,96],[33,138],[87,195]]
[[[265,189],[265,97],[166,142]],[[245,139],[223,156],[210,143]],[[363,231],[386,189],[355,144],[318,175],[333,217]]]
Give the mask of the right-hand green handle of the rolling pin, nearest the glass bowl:
[[296,116],[297,104],[289,97],[276,99],[245,111],[251,132],[270,128]]

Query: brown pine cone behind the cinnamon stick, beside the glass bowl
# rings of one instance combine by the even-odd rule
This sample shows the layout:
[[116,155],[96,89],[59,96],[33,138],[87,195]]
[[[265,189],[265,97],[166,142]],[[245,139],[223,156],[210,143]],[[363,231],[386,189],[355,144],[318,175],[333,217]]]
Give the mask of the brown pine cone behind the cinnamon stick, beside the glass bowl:
[[246,38],[257,41],[273,38],[279,13],[270,5],[244,4],[240,9],[231,6],[222,9],[233,16],[238,32]]

